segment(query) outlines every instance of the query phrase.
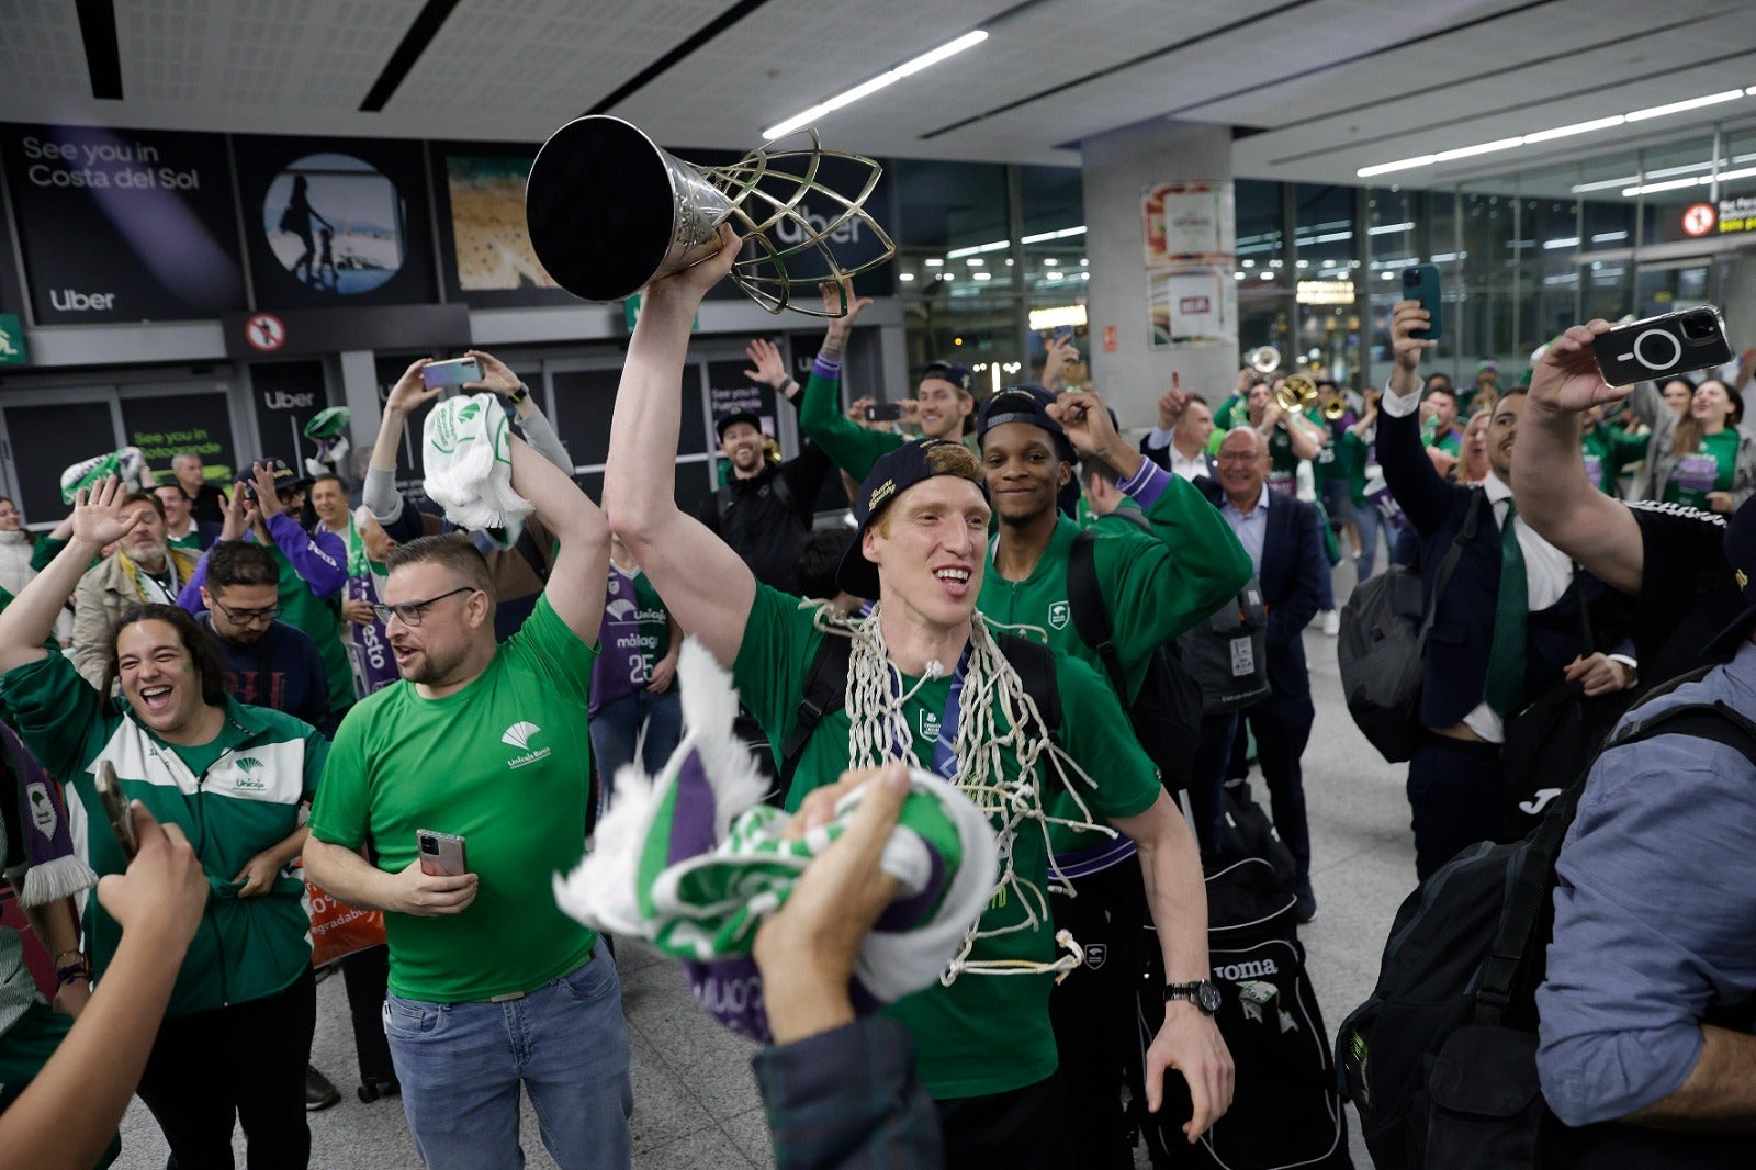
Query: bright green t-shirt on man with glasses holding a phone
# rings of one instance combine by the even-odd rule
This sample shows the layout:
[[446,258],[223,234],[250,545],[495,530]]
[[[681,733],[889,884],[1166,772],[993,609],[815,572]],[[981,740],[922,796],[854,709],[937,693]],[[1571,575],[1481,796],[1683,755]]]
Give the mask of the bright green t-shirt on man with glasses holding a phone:
[[465,838],[481,878],[462,914],[386,914],[390,989],[430,1003],[534,991],[576,970],[597,931],[562,914],[551,880],[585,856],[594,646],[546,597],[462,690],[423,699],[395,682],[335,731],[311,833],[344,849],[367,834],[378,868],[416,861],[414,833]]

